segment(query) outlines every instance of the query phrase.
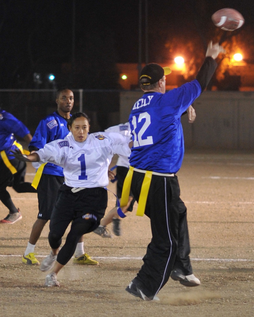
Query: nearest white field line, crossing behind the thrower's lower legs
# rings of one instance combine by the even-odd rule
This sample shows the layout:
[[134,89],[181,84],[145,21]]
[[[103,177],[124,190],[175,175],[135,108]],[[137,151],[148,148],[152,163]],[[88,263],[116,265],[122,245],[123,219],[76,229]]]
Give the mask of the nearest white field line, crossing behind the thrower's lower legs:
[[[22,257],[22,255],[15,255],[15,254],[0,254],[0,257]],[[40,256],[36,255],[36,257],[46,257],[46,256]],[[99,259],[99,260],[142,260],[143,257],[139,256],[93,256],[93,259]],[[203,261],[203,262],[254,262],[254,260],[249,259],[201,259],[201,258],[191,258],[191,261]]]

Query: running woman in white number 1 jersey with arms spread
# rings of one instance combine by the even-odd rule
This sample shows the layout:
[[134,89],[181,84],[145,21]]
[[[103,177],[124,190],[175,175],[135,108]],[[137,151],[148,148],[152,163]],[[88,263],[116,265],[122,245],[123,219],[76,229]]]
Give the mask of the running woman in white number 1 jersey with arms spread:
[[[50,254],[43,260],[46,286],[59,286],[57,273],[70,260],[79,238],[95,230],[107,208],[108,167],[114,153],[130,155],[129,137],[119,133],[89,132],[89,118],[74,113],[68,121],[69,133],[28,156],[15,152],[15,157],[27,162],[50,162],[64,169],[65,183],[58,191],[50,219]],[[59,250],[62,236],[72,221],[66,242]],[[54,265],[55,264],[55,265]]]

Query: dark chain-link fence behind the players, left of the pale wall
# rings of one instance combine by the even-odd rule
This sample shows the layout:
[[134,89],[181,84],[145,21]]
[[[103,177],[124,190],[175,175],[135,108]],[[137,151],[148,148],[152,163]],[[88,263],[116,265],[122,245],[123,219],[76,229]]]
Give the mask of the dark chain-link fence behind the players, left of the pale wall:
[[[71,113],[85,112],[91,118],[90,132],[119,124],[120,90],[73,89]],[[0,89],[0,107],[12,113],[35,132],[46,115],[57,110],[54,89]]]

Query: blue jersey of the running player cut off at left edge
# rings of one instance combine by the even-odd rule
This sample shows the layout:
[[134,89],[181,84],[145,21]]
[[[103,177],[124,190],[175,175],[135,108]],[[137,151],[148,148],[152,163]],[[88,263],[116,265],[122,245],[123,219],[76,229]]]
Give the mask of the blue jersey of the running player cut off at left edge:
[[[16,150],[14,141],[17,142],[15,135],[23,138],[29,134],[28,128],[11,113],[0,109],[0,152],[5,151],[8,159],[14,159],[10,156],[10,150]],[[0,157],[1,159],[1,157]]]

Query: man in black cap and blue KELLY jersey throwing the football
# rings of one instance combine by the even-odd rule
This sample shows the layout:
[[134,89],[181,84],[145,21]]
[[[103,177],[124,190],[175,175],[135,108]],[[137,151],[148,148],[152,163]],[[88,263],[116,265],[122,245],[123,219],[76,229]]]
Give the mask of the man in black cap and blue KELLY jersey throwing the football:
[[156,295],[170,274],[186,286],[196,286],[199,281],[190,265],[187,210],[176,176],[184,157],[180,120],[206,88],[221,52],[221,46],[210,42],[196,79],[167,93],[165,75],[170,74],[169,68],[152,63],[141,70],[144,95],[134,104],[129,117],[133,147],[121,204],[127,203],[126,188],[130,188],[138,202],[137,214],[150,218],[152,239],[144,264],[126,288],[145,301],[158,300]]

